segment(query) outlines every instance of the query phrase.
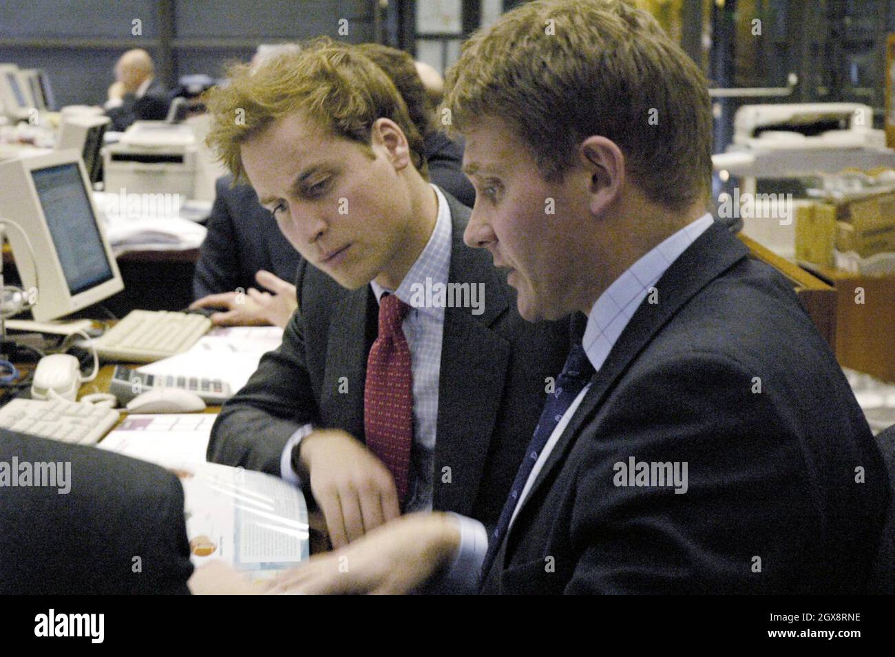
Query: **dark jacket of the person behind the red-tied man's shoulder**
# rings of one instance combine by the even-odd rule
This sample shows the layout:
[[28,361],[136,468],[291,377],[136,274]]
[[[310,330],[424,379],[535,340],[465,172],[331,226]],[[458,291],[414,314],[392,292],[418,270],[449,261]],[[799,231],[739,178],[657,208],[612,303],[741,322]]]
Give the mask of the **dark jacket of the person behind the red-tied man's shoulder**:
[[251,185],[231,188],[232,180],[232,175],[225,175],[215,183],[209,233],[202,242],[192,277],[192,292],[197,299],[232,292],[237,287],[258,287],[255,273],[259,269],[293,281],[302,261],[277,220],[260,206]]

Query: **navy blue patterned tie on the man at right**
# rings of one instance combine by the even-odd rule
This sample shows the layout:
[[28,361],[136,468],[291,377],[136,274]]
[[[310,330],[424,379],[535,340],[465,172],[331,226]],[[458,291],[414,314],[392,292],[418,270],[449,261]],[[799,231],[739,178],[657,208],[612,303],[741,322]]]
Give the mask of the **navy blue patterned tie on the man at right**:
[[519,496],[525,488],[525,482],[528,476],[532,474],[534,464],[541,456],[541,450],[550,439],[550,434],[557,428],[559,420],[566,414],[569,406],[575,401],[575,397],[584,389],[588,381],[593,376],[593,365],[584,354],[584,348],[580,344],[572,346],[563,366],[562,372],[556,381],[556,391],[547,397],[544,404],[544,410],[541,412],[541,420],[538,426],[534,428],[534,436],[525,450],[525,456],[522,465],[519,466],[519,472],[516,474],[516,481],[513,482],[513,488],[509,491],[509,497],[504,504],[503,511],[500,512],[500,519],[497,527],[488,537],[488,552],[485,555],[485,561],[482,565],[482,576],[484,576],[497,554],[499,545],[507,528],[509,527],[510,518],[513,517],[513,511],[519,501]]

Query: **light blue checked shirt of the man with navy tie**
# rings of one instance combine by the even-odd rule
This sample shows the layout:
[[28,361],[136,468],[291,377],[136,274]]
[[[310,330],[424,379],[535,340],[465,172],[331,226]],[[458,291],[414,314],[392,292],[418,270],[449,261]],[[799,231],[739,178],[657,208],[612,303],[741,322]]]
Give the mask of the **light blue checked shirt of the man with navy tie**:
[[[649,289],[656,285],[671,263],[678,260],[680,254],[685,252],[687,247],[694,243],[696,238],[702,235],[709,226],[712,226],[711,214],[705,214],[693,223],[684,226],[626,269],[600,295],[588,314],[587,327],[584,329],[584,338],[582,339],[584,353],[587,354],[594,370],[600,371],[609,352],[618,340],[618,336],[625,330],[628,321],[631,320],[637,308],[649,294]],[[528,475],[519,501],[516,502],[516,509],[510,518],[510,526],[513,526],[516,514],[522,507],[528,492],[531,491],[538,474],[541,473],[541,468],[550,457],[550,452],[556,447],[563,431],[566,431],[568,422],[590,388],[591,386],[588,384],[578,394],[578,397],[575,397],[556,429],[550,434],[550,439],[547,440],[547,444],[541,451],[541,456],[535,462],[532,474]],[[488,533],[478,520],[458,514],[453,515],[456,516],[459,523],[460,548],[457,550],[454,563],[446,578],[450,583],[458,584],[469,591],[473,589],[481,576],[479,571],[482,569],[485,553],[488,551]]]

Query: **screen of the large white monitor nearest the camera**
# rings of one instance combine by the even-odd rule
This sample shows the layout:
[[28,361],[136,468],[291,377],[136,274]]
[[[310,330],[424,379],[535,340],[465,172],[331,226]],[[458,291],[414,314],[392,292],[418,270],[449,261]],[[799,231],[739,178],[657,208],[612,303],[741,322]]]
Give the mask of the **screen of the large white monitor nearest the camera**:
[[69,293],[114,277],[77,163],[31,172]]

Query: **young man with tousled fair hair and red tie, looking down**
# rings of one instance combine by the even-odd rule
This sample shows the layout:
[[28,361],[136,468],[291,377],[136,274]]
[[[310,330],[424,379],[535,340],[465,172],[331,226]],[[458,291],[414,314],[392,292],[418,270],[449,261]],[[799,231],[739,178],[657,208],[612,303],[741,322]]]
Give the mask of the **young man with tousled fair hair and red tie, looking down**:
[[[463,245],[468,210],[422,177],[419,131],[356,48],[324,39],[250,71],[209,98],[209,142],[306,260],[301,310],[222,409],[209,460],[303,483],[336,545],[399,506],[493,525],[567,326],[526,324]],[[422,294],[448,285],[465,302]]]

